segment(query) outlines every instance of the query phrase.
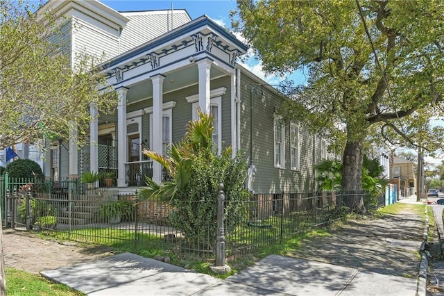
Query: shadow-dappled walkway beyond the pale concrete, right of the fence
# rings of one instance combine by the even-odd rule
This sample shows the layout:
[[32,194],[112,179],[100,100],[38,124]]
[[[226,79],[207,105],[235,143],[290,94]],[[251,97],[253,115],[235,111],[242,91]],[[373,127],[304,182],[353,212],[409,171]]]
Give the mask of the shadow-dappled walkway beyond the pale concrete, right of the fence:
[[380,274],[417,277],[424,223],[412,213],[350,220],[329,231],[330,236],[309,239],[298,251],[287,255]]

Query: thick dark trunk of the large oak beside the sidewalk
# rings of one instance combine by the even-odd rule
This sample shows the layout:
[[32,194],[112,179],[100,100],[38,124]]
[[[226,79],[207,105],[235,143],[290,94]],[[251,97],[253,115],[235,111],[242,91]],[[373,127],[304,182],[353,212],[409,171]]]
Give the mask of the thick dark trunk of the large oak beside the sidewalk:
[[362,191],[362,160],[364,139],[348,140],[342,164],[342,192],[345,206],[354,213],[365,213]]

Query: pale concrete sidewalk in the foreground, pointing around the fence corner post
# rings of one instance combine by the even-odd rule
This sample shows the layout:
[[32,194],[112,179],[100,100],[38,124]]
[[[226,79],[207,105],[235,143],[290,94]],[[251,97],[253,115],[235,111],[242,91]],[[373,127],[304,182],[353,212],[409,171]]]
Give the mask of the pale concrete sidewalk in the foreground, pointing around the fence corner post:
[[[417,295],[418,280],[356,268],[268,256],[219,280],[123,253],[41,272],[88,295]],[[425,295],[420,293],[420,295]]]

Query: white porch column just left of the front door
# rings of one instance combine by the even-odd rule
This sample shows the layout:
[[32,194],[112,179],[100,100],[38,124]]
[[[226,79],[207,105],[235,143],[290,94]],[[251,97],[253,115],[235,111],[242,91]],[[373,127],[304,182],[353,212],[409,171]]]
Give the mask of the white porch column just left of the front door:
[[125,163],[128,152],[126,145],[126,92],[128,88],[119,88],[119,104],[117,106],[117,186],[126,187],[125,183]]

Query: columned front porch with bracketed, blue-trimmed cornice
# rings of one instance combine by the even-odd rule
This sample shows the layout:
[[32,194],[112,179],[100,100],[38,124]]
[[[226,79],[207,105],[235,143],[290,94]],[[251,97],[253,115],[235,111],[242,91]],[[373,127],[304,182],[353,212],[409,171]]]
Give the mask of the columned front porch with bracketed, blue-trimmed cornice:
[[69,153],[77,174],[114,173],[118,188],[144,186],[146,176],[164,181],[167,172],[142,151],[164,155],[185,135],[198,108],[214,116],[216,146],[228,143],[235,153],[240,104],[234,63],[245,52],[244,44],[203,16],[107,63],[108,85],[119,104],[111,115],[96,114],[91,106],[90,145],[78,161]]

